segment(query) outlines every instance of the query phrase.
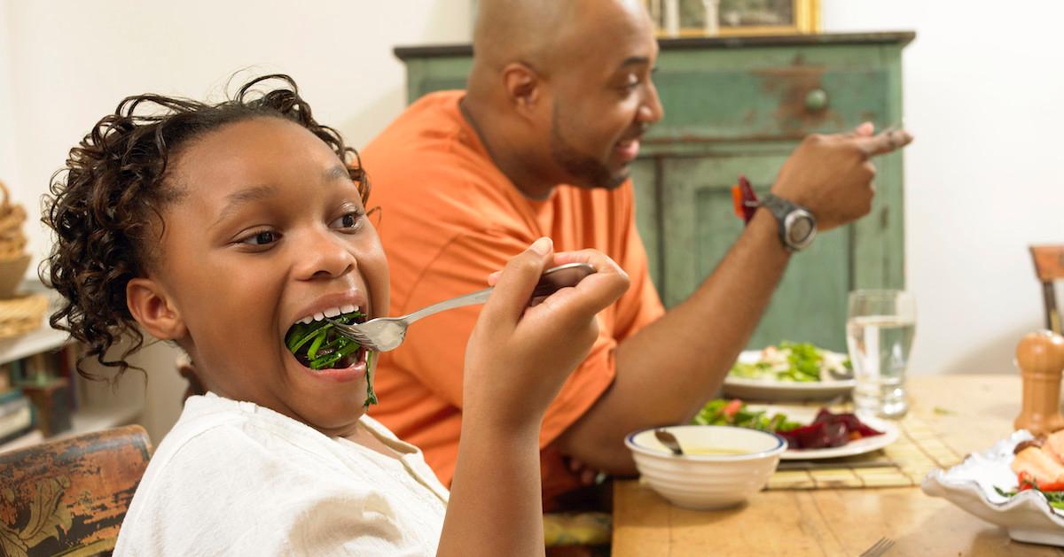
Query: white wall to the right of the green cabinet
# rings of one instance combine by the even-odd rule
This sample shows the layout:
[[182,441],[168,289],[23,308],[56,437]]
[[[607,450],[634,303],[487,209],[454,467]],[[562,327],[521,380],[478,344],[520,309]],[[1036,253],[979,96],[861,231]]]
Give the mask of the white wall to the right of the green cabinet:
[[1064,242],[1064,2],[821,6],[829,32],[916,31],[903,56],[913,372],[1012,371],[1043,323],[1027,247]]

